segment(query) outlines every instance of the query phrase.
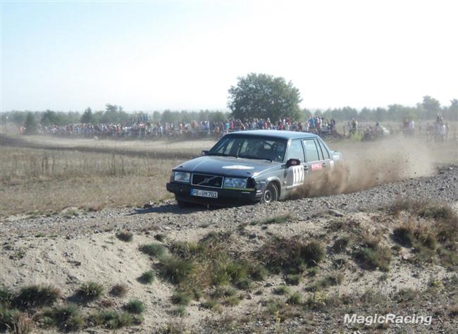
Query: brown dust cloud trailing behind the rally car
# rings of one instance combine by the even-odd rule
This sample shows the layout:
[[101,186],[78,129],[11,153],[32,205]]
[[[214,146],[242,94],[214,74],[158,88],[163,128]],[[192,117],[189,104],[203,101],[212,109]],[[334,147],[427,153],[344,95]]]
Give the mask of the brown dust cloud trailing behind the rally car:
[[457,142],[390,138],[378,142],[335,142],[345,169],[304,183],[295,197],[358,192],[397,180],[433,175],[435,166],[458,163]]

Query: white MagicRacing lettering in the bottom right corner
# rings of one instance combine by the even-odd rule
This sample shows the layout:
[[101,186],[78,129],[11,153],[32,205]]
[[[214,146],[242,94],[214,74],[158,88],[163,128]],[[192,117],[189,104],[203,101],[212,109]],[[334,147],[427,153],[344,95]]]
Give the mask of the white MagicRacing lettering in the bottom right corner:
[[373,314],[371,316],[359,316],[357,314],[345,314],[344,323],[360,323],[365,326],[371,326],[376,323],[415,323],[419,325],[431,325],[432,316],[397,316],[396,314]]

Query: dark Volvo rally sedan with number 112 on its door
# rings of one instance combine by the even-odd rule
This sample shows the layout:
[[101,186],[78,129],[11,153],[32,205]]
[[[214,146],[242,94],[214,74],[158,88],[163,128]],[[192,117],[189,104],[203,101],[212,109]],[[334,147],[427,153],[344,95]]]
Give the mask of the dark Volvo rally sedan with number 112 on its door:
[[173,168],[167,190],[180,206],[231,206],[273,202],[332,172],[342,154],[318,135],[249,130],[225,135],[202,156]]

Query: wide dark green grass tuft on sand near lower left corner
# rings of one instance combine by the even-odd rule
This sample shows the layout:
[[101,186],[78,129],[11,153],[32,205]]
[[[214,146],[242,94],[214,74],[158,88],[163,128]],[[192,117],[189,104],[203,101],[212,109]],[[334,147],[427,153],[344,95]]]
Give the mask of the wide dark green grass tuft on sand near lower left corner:
[[61,297],[61,290],[51,285],[30,285],[22,287],[14,298],[14,304],[20,308],[42,307],[51,305]]

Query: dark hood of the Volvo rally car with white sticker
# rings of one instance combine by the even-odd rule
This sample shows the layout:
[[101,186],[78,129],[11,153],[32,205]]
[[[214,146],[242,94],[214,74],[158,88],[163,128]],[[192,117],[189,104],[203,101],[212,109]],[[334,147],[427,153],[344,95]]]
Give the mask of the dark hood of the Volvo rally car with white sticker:
[[247,178],[256,176],[268,169],[276,168],[280,164],[278,162],[235,158],[231,156],[200,156],[199,158],[181,163],[179,166],[173,168],[173,170]]

